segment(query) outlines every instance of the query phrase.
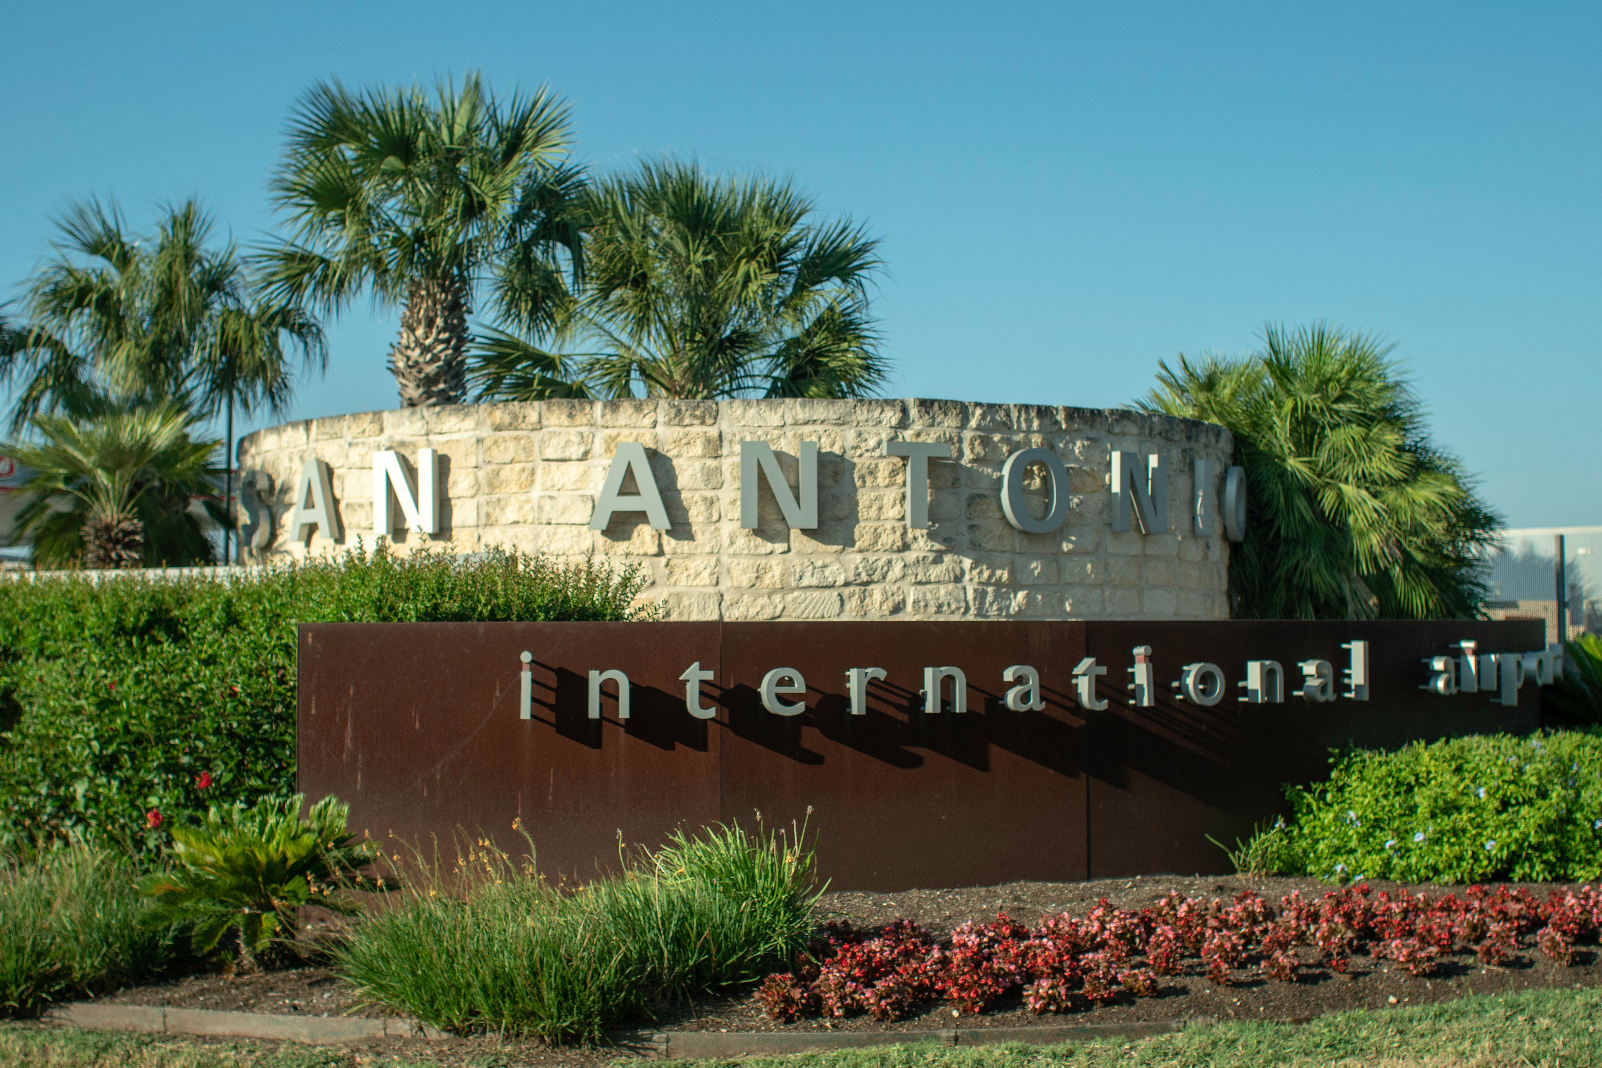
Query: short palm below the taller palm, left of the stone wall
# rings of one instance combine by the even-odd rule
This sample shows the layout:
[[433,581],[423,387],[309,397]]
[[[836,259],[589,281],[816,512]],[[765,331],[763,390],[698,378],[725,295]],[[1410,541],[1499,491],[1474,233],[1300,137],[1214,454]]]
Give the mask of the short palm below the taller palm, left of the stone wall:
[[30,540],[43,567],[210,560],[211,546],[187,508],[218,474],[221,442],[197,440],[194,424],[194,413],[175,402],[88,418],[35,415],[35,440],[5,447],[34,471],[14,538]]

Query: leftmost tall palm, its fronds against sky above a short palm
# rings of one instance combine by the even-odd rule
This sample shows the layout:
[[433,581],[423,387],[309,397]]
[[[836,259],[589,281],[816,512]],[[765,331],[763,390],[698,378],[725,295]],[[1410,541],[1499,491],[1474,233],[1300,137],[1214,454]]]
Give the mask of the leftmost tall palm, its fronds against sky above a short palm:
[[[282,415],[290,352],[327,365],[322,328],[295,304],[258,299],[244,258],[231,242],[211,247],[215,223],[192,200],[167,208],[151,237],[95,200],[72,205],[58,231],[54,258],[29,285],[27,323],[0,338],[0,373],[21,379],[11,431],[40,413],[90,418],[162,400],[221,413],[231,500],[235,408]],[[227,544],[224,522],[224,559]]]

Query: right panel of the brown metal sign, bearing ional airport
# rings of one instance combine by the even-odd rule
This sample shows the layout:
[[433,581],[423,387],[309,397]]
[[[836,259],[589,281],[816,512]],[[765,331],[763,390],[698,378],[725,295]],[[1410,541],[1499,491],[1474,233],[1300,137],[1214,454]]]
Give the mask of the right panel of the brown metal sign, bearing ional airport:
[[[1256,823],[1288,812],[1286,783],[1310,783],[1330,770],[1330,751],[1347,745],[1394,748],[1480,732],[1525,732],[1538,724],[1538,690],[1520,690],[1515,708],[1490,695],[1440,697],[1421,684],[1424,660],[1479,652],[1528,652],[1544,644],[1541,623],[1485,621],[1258,621],[1093,623],[1089,652],[1109,666],[1088,713],[1089,877],[1141,873],[1226,873],[1219,842],[1235,844]],[[1368,642],[1367,701],[1296,697],[1302,661],[1328,661],[1336,693],[1352,650]],[[1134,648],[1150,647],[1155,703],[1131,705]],[[1250,660],[1278,661],[1283,703],[1250,703],[1238,685]],[[1174,682],[1189,663],[1222,669],[1226,693],[1213,706],[1181,700]]]

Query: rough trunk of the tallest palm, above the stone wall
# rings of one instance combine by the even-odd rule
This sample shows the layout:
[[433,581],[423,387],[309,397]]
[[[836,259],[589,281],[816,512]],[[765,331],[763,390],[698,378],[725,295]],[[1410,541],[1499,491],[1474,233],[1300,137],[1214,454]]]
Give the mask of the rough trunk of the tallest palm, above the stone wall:
[[466,400],[468,287],[461,279],[412,283],[389,370],[407,408]]

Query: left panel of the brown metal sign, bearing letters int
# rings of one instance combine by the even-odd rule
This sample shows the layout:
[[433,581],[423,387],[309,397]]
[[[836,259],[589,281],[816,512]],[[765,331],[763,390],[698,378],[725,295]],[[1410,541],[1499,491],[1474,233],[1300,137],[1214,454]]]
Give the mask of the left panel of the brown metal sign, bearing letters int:
[[[718,669],[718,623],[333,623],[300,628],[300,789],[351,804],[381,841],[442,852],[458,831],[588,877],[617,842],[718,821],[719,732],[684,711],[684,668]],[[530,719],[521,653],[530,652]],[[588,668],[630,679],[601,687]],[[399,849],[399,847],[396,847]]]

